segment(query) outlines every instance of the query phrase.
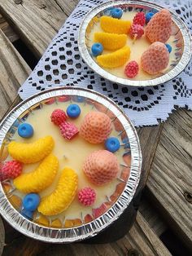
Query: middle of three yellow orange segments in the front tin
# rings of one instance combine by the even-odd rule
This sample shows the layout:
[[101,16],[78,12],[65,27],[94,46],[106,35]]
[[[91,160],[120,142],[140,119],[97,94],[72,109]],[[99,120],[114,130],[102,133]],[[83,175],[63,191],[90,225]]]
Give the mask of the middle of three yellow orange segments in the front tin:
[[15,188],[24,193],[41,192],[48,188],[55,179],[59,168],[57,157],[50,154],[33,172],[21,174],[14,179]]

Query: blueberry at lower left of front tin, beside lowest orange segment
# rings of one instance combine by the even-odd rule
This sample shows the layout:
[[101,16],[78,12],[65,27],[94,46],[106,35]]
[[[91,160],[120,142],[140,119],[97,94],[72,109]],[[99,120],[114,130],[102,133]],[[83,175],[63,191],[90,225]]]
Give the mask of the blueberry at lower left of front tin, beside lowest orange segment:
[[40,202],[40,196],[38,194],[31,193],[24,196],[24,199],[23,199],[24,210],[28,210],[28,211],[36,210],[37,206],[39,205],[39,202]]

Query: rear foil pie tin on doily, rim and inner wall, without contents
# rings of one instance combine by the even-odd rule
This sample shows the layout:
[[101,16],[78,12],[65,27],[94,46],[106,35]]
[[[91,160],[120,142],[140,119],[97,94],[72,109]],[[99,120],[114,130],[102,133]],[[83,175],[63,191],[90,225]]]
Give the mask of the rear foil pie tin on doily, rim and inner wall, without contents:
[[[145,1],[107,1],[98,7],[95,7],[85,15],[81,22],[78,35],[78,46],[82,58],[89,68],[93,69],[101,77],[106,78],[111,82],[115,82],[124,86],[156,86],[164,82],[168,82],[179,73],[183,71],[189,63],[192,53],[191,35],[185,23],[172,11],[172,35],[174,36],[174,43],[176,43],[175,60],[172,60],[170,67],[164,73],[159,74],[159,77],[151,77],[150,80],[131,80],[129,78],[117,77],[109,73],[107,70],[100,67],[91,55],[91,40],[89,35],[94,28],[94,25],[99,22],[99,18],[107,15],[108,10],[112,7],[120,7],[124,12],[127,11],[160,11],[162,8],[155,3]],[[139,40],[139,39],[138,39]]]

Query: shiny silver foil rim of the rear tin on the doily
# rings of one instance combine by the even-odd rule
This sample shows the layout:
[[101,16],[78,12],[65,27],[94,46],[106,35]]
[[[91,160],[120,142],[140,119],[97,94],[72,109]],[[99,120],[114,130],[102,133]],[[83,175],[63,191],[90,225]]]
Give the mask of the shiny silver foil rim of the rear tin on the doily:
[[121,77],[116,77],[115,75],[108,73],[106,70],[101,68],[89,55],[89,51],[86,46],[85,42],[85,34],[86,34],[86,29],[89,24],[89,22],[94,18],[95,15],[98,15],[100,11],[103,11],[104,9],[117,6],[117,5],[138,5],[139,7],[151,7],[155,8],[156,10],[161,10],[164,8],[163,6],[160,6],[158,4],[155,4],[153,2],[146,2],[146,1],[133,1],[133,0],[127,0],[127,1],[122,1],[122,0],[117,0],[117,1],[107,1],[104,2],[103,4],[99,5],[98,7],[95,7],[94,9],[90,10],[86,15],[85,18],[82,20],[79,33],[78,33],[78,47],[79,51],[81,53],[82,58],[85,60],[85,63],[89,65],[89,68],[93,69],[95,73],[98,73],[101,77],[106,78],[107,80],[111,82],[118,83],[120,85],[124,86],[157,86],[160,85],[164,82],[168,82],[172,80],[174,77],[177,77],[184,68],[186,67],[187,64],[190,62],[190,58],[192,55],[192,38],[190,35],[190,31],[185,25],[185,23],[178,17],[178,15],[172,11],[172,20],[177,24],[177,27],[180,29],[183,40],[184,40],[184,50],[183,54],[181,56],[181,60],[178,62],[178,64],[172,68],[168,73],[156,77],[151,80],[129,80]]

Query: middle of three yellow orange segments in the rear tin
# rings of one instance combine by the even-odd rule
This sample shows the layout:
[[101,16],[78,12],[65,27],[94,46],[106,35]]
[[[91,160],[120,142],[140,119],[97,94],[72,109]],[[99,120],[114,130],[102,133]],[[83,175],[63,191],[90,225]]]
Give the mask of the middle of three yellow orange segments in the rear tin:
[[125,46],[127,38],[128,37],[125,34],[104,32],[94,33],[94,42],[100,42],[104,49],[110,51],[116,51]]

